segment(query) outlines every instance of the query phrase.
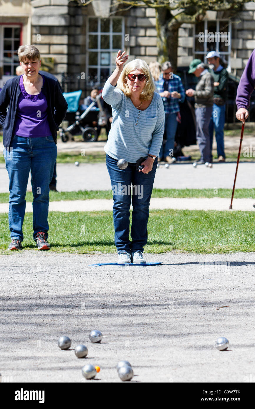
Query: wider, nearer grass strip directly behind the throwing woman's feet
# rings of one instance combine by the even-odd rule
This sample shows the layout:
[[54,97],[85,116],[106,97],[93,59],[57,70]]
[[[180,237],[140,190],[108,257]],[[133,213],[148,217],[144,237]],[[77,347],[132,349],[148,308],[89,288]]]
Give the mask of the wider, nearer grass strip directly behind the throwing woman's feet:
[[[50,212],[49,225],[50,251],[116,252],[111,211]],[[252,211],[152,210],[144,252],[254,252],[254,227]],[[25,215],[23,232],[23,247],[36,249],[32,240],[32,213]],[[6,250],[10,243],[7,213],[0,214],[0,238],[0,253],[12,254]]]

